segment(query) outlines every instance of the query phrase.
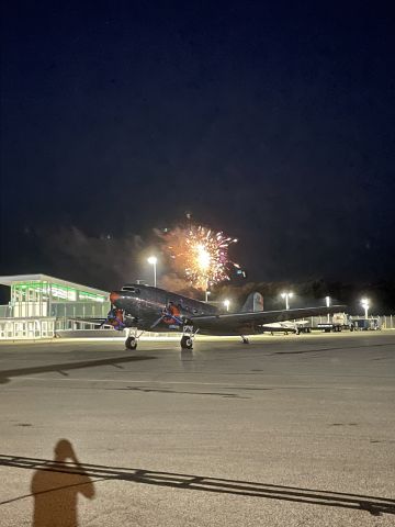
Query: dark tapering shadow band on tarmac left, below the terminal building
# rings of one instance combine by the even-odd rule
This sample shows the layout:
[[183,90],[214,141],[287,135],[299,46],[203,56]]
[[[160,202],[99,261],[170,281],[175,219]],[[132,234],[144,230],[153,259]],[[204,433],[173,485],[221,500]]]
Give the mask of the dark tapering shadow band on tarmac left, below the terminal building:
[[120,368],[119,365],[125,362],[136,362],[139,360],[153,360],[156,357],[150,356],[133,356],[133,357],[111,357],[108,359],[97,359],[97,360],[82,360],[78,362],[60,362],[56,365],[43,365],[43,366],[32,366],[30,368],[18,368],[14,370],[0,370],[0,384],[5,384],[13,377],[21,375],[34,375],[36,373],[60,373],[64,377],[67,377],[66,373],[69,370],[80,370],[83,368],[97,368],[100,366],[113,366],[114,368]]

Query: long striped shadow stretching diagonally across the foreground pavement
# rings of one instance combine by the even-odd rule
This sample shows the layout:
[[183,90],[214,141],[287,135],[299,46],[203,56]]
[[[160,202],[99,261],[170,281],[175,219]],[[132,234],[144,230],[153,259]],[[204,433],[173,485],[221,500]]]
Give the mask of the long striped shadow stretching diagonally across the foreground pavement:
[[[273,485],[256,481],[228,480],[211,478],[198,474],[182,474],[177,472],[158,472],[145,469],[123,467],[108,467],[101,464],[70,466],[68,462],[59,463],[54,469],[49,461],[36,458],[24,458],[0,455],[0,466],[32,469],[40,467],[44,471],[59,471],[76,473],[80,471],[84,476],[95,478],[95,481],[120,480],[139,484],[167,486],[172,489],[193,490],[201,492],[232,494],[237,496],[253,496],[264,500],[304,503],[308,505],[321,505],[356,511],[365,511],[374,516],[382,514],[395,514],[395,500],[361,494],[331,492],[317,489],[303,489],[296,486]],[[12,500],[0,502],[0,505],[22,500],[27,496],[18,496]],[[40,525],[40,524],[37,524]],[[40,527],[47,524],[40,525]],[[34,527],[37,527],[34,525]]]

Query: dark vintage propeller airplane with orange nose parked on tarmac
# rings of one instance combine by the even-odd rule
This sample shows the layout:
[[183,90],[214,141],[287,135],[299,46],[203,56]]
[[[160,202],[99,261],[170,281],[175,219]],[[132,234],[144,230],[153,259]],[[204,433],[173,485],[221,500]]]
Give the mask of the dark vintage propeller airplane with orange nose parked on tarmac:
[[[343,311],[343,305],[263,311],[260,293],[250,293],[239,313],[223,313],[215,305],[178,293],[143,284],[125,284],[110,294],[112,309],[108,318],[78,318],[100,326],[111,325],[127,332],[125,347],[136,349],[144,332],[182,333],[181,349],[192,349],[198,333],[202,335],[239,336],[271,330],[270,323],[280,323],[305,316],[325,315]],[[278,330],[274,324],[273,332]]]

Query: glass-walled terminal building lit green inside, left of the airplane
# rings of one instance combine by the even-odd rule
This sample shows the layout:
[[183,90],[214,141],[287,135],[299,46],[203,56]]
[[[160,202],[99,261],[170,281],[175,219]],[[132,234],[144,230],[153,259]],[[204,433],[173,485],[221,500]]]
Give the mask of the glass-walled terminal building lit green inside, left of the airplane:
[[0,338],[53,337],[60,329],[93,327],[77,318],[105,318],[109,292],[47,274],[0,277],[11,290],[0,306]]

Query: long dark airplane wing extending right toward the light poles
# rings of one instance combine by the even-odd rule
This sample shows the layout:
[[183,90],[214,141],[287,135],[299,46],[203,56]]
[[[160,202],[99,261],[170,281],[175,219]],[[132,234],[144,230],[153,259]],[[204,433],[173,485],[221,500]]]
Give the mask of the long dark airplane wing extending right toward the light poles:
[[217,315],[192,316],[191,322],[202,332],[210,332],[214,335],[234,334],[248,335],[253,333],[263,324],[273,322],[293,321],[305,316],[326,315],[339,313],[346,309],[345,305],[331,305],[330,307],[301,307],[297,310],[279,311],[255,311],[249,313],[222,313]]

